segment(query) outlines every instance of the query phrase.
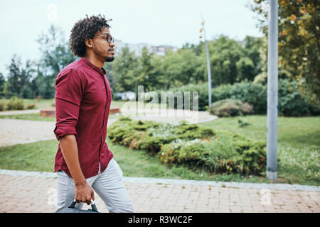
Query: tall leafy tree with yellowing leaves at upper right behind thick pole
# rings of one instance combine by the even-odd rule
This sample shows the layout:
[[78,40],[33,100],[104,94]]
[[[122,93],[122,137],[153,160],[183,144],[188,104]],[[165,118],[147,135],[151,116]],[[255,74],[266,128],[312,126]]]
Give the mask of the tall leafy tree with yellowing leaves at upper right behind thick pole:
[[[270,0],[254,0],[251,9],[267,35]],[[318,0],[279,0],[279,68],[299,84],[313,104],[320,100],[320,4]]]

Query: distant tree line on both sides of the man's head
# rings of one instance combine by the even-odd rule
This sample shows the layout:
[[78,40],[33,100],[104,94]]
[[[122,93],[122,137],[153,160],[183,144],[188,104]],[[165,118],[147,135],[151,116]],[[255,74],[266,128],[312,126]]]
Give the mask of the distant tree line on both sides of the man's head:
[[[233,84],[242,80],[253,81],[263,66],[260,59],[261,38],[247,36],[238,41],[220,35],[208,41],[211,74],[214,85]],[[71,51],[60,28],[51,26],[38,38],[40,60],[28,60],[21,65],[20,57],[14,55],[9,74],[0,74],[2,96],[19,96],[45,99],[55,95],[55,78],[60,70],[78,59]],[[183,45],[177,51],[155,55],[147,48],[141,55],[124,47],[117,51],[113,62],[105,63],[112,92],[137,92],[139,85],[144,91],[170,89],[186,84],[207,81],[206,51],[203,42]],[[6,79],[4,79],[6,78]],[[0,95],[1,95],[0,94]]]

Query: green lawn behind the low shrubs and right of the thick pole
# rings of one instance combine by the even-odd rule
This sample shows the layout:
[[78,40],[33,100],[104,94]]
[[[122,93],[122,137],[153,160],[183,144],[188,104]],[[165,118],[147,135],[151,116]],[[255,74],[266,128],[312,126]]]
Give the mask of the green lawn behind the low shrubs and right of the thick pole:
[[[250,123],[241,128],[238,119]],[[267,116],[218,118],[199,125],[233,131],[267,143]],[[278,182],[320,184],[320,117],[278,118]]]

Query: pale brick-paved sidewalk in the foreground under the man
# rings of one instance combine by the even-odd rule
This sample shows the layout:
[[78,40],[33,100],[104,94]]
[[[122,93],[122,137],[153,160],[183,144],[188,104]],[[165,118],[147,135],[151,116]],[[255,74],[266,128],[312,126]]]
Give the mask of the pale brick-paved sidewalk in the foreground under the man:
[[[320,187],[286,188],[277,184],[228,184],[139,177],[124,177],[124,182],[136,213],[320,213]],[[54,212],[56,192],[56,178],[52,173],[0,171],[1,213]],[[108,212],[97,194],[95,198],[98,210]],[[87,204],[83,206],[83,209],[89,208]]]

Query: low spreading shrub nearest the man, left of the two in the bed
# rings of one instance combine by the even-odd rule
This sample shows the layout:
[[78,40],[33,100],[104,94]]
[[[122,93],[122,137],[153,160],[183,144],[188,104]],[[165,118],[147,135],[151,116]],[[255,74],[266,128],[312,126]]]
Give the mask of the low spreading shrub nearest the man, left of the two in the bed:
[[176,139],[193,140],[215,135],[211,128],[180,124],[157,123],[154,121],[132,121],[122,117],[108,128],[113,143],[130,148],[144,149],[150,154],[158,153],[161,146]]

